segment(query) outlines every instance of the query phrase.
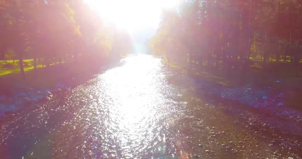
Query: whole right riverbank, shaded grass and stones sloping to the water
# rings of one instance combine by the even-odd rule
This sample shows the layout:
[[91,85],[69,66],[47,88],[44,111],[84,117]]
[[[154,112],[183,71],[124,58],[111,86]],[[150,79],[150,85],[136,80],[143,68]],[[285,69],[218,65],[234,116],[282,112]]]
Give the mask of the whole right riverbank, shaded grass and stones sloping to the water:
[[302,124],[298,88],[293,89],[295,83],[288,82],[288,79],[268,77],[268,74],[255,74],[252,71],[242,79],[235,71],[188,69],[176,64],[170,67],[190,76],[197,94],[207,92],[221,100],[253,107],[262,113]]

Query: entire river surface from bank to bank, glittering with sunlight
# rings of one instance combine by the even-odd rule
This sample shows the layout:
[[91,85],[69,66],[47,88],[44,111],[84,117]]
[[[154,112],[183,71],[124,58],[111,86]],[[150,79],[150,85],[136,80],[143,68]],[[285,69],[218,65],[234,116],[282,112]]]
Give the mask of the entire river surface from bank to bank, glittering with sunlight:
[[3,122],[1,158],[298,158],[277,133],[197,97],[160,59],[121,63]]

